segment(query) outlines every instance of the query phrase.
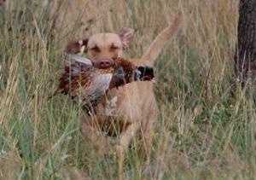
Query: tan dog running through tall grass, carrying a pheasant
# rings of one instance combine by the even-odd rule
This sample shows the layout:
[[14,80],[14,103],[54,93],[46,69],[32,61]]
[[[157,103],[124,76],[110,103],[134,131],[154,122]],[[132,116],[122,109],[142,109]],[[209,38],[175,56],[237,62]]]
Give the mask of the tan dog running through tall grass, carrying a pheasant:
[[[176,34],[180,22],[181,15],[177,15],[172,24],[154,39],[143,56],[132,61],[137,65],[154,66],[161,49]],[[131,28],[123,28],[119,33],[97,33],[90,38],[68,44],[67,49],[75,54],[85,52],[93,61],[108,63],[123,57],[124,50],[128,49],[133,36],[134,30]],[[82,115],[80,120],[83,135],[103,153],[108,153],[114,146],[120,154],[124,154],[131,140],[140,132],[149,159],[157,116],[154,82],[141,81],[110,90],[106,98],[96,107],[95,116],[89,119],[87,115]],[[112,145],[108,135],[113,133],[104,134],[103,129],[113,131],[118,126],[121,126],[119,136],[116,138],[117,142]]]

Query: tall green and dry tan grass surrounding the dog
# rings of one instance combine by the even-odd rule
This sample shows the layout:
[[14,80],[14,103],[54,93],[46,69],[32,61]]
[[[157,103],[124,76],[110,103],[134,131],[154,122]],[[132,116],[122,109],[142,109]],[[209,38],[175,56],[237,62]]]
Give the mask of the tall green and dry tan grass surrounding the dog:
[[[253,179],[253,90],[230,95],[238,0],[9,0],[0,9],[0,179],[116,179],[114,153],[101,157],[79,131],[81,108],[48,96],[67,41],[136,30],[138,57],[174,15],[183,23],[156,63],[160,109],[147,165],[135,139],[125,179]],[[81,3],[83,2],[83,3]],[[57,12],[57,13],[55,13]]]

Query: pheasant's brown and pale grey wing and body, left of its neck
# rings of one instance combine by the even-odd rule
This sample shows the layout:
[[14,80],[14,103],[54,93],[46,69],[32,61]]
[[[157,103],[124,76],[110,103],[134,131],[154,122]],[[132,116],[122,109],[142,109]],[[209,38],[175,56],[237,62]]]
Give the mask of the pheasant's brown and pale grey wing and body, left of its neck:
[[105,95],[113,77],[113,68],[99,69],[90,60],[73,55],[67,61],[56,92],[69,95],[82,104],[97,102]]

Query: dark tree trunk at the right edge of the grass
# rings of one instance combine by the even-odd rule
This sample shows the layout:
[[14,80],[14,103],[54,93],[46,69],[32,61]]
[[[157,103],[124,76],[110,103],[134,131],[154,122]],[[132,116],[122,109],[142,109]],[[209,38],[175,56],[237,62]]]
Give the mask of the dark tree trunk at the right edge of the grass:
[[241,0],[239,15],[235,71],[244,86],[256,79],[256,0]]

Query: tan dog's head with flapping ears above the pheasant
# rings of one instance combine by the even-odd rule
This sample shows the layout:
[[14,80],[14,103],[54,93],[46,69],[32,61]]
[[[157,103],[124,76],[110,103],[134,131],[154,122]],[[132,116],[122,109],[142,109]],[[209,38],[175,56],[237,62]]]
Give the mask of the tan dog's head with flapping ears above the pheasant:
[[133,38],[134,30],[123,28],[119,33],[97,33],[90,38],[69,44],[69,53],[87,52],[87,57],[102,67],[108,67],[113,59],[122,57]]

